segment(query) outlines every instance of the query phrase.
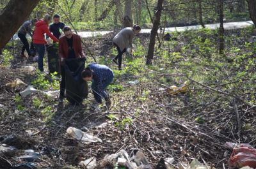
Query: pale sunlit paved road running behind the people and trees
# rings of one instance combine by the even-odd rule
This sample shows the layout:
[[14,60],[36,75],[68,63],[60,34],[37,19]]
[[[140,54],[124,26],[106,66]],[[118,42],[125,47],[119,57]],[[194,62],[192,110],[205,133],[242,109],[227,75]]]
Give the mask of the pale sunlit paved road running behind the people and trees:
[[[220,26],[220,24],[206,24],[205,27],[210,28],[210,29],[217,29]],[[253,22],[251,20],[248,21],[242,21],[242,22],[227,22],[224,23],[224,29],[239,29],[247,26],[253,26]],[[186,31],[189,29],[200,29],[202,28],[201,26],[183,26],[183,27],[166,27],[166,31]],[[141,33],[150,33],[151,29],[142,29]],[[93,37],[97,35],[104,35],[111,33],[112,31],[81,31],[78,34],[82,38],[87,38],[87,37]],[[19,39],[17,34],[13,36],[14,40]]]

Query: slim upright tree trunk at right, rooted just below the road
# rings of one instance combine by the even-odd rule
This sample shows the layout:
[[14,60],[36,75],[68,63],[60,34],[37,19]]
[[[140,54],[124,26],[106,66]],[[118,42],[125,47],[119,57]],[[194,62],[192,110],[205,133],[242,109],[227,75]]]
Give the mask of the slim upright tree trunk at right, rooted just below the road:
[[218,0],[219,16],[220,16],[220,33],[219,33],[219,39],[220,39],[220,48],[219,48],[220,51],[219,52],[220,52],[220,54],[223,54],[224,49],[225,49],[224,27],[223,27],[223,20],[224,20],[223,1],[224,0]]

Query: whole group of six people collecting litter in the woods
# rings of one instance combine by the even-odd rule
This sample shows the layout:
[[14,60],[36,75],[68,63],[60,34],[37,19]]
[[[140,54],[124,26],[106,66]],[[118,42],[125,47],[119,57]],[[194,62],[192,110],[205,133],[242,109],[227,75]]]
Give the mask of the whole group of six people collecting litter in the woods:
[[[31,56],[29,50],[29,43],[26,39],[26,34],[32,38],[31,46],[35,47],[38,53],[38,69],[44,72],[44,54],[45,44],[49,44],[49,38],[53,40],[53,43],[59,43],[58,55],[60,59],[60,98],[59,102],[63,102],[65,98],[65,60],[85,57],[81,37],[77,34],[72,33],[72,29],[69,26],[65,26],[63,22],[60,22],[60,15],[53,16],[45,15],[41,20],[28,20],[22,24],[19,29],[18,36],[23,43],[21,56],[24,57],[24,51],[28,52],[28,56]],[[35,26],[34,31],[32,27]],[[127,48],[131,48],[132,53],[132,40],[136,34],[140,33],[140,26],[125,27],[115,38],[113,38],[113,45],[115,45],[118,54],[113,59],[115,64],[118,64],[118,70],[122,70],[122,55],[127,52]],[[45,37],[46,34],[46,37]],[[76,64],[71,64],[71,70],[76,70]],[[109,95],[106,93],[106,87],[113,81],[114,73],[106,65],[92,63],[89,64],[81,73],[81,78],[84,81],[92,81],[92,91],[95,98],[95,108],[99,107],[102,103],[102,98],[106,100],[106,106],[111,105]]]

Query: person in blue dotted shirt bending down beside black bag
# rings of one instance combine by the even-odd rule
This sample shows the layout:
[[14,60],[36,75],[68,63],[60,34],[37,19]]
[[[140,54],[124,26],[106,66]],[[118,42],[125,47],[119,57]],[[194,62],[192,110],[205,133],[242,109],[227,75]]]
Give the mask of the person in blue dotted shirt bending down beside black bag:
[[93,96],[97,101],[95,108],[98,108],[99,104],[102,103],[102,98],[106,100],[106,106],[109,108],[111,100],[105,89],[113,81],[113,71],[106,65],[92,63],[82,71],[82,78],[86,82],[92,81]]

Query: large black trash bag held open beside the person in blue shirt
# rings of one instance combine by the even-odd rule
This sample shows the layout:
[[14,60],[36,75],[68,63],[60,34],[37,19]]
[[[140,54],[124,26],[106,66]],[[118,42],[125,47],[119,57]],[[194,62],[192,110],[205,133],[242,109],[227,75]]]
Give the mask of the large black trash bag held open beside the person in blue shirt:
[[85,58],[66,59],[66,98],[72,105],[79,105],[88,96],[88,84],[81,76]]

